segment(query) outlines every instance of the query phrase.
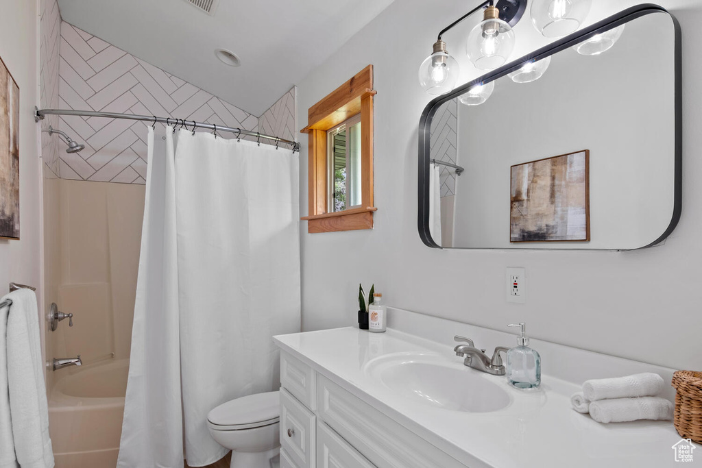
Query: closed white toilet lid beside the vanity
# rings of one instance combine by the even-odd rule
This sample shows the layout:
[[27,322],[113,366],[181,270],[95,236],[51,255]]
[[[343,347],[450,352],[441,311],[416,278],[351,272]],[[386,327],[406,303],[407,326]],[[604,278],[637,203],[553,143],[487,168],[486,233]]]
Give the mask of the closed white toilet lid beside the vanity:
[[279,417],[280,392],[267,392],[222,403],[210,411],[207,420],[218,426],[255,427],[259,423],[276,422]]

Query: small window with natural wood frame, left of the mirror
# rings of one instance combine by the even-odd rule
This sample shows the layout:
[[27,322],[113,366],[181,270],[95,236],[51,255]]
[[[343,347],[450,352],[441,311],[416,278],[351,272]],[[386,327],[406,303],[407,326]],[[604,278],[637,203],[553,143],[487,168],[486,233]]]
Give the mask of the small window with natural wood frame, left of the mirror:
[[373,228],[374,95],[369,65],[307,111],[307,232]]

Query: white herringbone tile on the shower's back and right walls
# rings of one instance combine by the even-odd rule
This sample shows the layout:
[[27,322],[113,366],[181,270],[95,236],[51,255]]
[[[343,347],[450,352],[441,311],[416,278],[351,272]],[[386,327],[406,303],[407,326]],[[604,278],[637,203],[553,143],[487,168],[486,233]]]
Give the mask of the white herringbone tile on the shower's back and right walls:
[[[263,121],[266,131],[261,133],[293,139],[294,88],[259,118],[67,22],[61,23],[60,35],[63,109],[173,116],[249,131],[261,131]],[[293,109],[292,118],[288,109]],[[59,152],[60,178],[144,184],[146,126],[143,121],[61,116],[60,129],[86,148],[74,154]]]

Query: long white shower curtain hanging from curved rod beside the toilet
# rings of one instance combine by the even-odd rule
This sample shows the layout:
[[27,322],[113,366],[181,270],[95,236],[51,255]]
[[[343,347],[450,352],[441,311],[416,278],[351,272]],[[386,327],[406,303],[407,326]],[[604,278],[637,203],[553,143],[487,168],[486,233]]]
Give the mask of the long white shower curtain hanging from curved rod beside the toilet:
[[176,135],[149,131],[118,467],[183,467],[183,439],[191,466],[223,457],[207,413],[277,389],[271,337],[300,330],[297,154]]

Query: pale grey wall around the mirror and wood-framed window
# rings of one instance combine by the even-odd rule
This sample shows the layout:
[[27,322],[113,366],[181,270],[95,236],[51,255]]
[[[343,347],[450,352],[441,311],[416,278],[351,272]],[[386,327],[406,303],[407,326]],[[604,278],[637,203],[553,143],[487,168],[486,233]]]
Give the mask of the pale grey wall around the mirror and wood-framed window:
[[[635,1],[599,2],[588,22]],[[375,229],[307,234],[300,223],[303,254],[303,327],[355,322],[359,281],[376,284],[390,305],[447,319],[505,330],[526,321],[534,337],[630,359],[682,369],[702,368],[702,314],[695,259],[702,258],[702,0],[666,0],[682,25],[684,208],[665,245],[629,253],[529,250],[438,250],[417,234],[417,127],[429,98],[417,69],[436,34],[465,13],[465,1],[395,1],[332,58],[298,85],[298,126],[307,108],[359,69],[375,66]],[[607,10],[607,11],[604,11]],[[469,25],[470,26],[470,25]],[[463,81],[477,76],[463,60],[461,34],[444,36],[463,65]],[[517,58],[545,43],[523,20]],[[529,45],[531,44],[531,46]],[[300,187],[307,187],[307,140]],[[300,193],[307,206],[307,192]],[[304,211],[304,208],[303,208]],[[525,305],[505,302],[505,267],[526,267]],[[332,274],[332,272],[335,272]],[[446,342],[452,337],[446,336]],[[505,343],[509,345],[509,343]]]

